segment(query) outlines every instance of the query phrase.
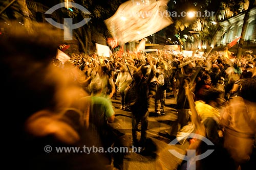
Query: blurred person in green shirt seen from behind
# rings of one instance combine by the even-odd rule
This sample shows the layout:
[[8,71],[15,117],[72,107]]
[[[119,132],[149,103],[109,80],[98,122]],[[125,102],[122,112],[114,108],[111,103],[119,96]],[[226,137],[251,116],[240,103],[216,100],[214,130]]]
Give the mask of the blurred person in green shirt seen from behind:
[[[97,141],[100,142],[100,145],[102,145],[105,152],[108,151],[108,148],[111,148],[112,145],[116,148],[123,148],[124,145],[122,144],[121,139],[124,134],[118,133],[119,131],[110,125],[115,120],[115,112],[111,100],[102,96],[103,89],[100,82],[92,82],[90,84],[90,89],[92,91],[91,96],[81,98],[79,101],[79,107],[82,112],[86,111],[88,102],[90,102],[90,113],[88,116],[89,130],[95,138],[98,138]],[[109,160],[106,162],[107,167],[111,167],[113,157],[114,167],[123,169],[124,153],[106,152],[102,155]]]

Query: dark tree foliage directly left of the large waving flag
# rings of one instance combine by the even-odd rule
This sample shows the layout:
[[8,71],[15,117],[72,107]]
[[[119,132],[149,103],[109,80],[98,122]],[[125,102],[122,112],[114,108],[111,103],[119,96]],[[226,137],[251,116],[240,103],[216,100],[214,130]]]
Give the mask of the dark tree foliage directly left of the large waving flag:
[[104,24],[104,20],[111,17],[119,5],[124,1],[112,0],[112,1],[100,1],[100,0],[79,0],[76,1],[77,4],[82,5],[84,8],[88,9],[90,14],[84,14],[78,9],[73,9],[73,11],[63,9],[63,13],[72,17],[75,22],[81,21],[83,18],[91,18],[90,21],[79,29],[75,29],[74,34],[76,35],[80,43],[80,51],[87,52],[89,43],[94,43],[92,39],[93,34],[101,34],[103,37],[110,37],[110,33]]

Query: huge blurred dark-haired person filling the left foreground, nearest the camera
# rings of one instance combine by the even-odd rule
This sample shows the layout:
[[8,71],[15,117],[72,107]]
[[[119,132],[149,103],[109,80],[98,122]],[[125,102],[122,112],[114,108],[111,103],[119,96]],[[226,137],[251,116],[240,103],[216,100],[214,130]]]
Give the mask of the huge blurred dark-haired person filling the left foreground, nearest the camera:
[[82,113],[73,108],[87,94],[51,62],[63,35],[36,24],[28,31],[10,23],[0,37],[2,109],[6,110],[3,162],[8,162],[8,169],[105,169],[99,154],[56,150],[90,147],[95,139],[84,129]]

